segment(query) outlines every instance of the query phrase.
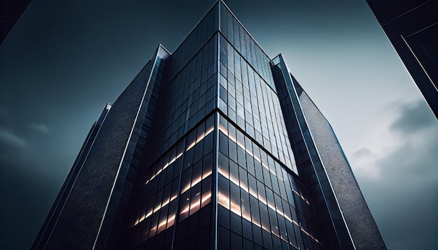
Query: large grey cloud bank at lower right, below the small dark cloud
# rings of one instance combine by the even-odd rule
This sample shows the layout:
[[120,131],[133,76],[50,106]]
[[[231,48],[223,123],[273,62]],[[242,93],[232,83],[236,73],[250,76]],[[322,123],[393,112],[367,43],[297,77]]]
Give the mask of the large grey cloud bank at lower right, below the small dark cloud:
[[[388,249],[429,249],[438,235],[438,126],[412,138],[376,162],[381,177],[365,189],[378,196],[374,216]],[[400,245],[400,239],[410,239]]]

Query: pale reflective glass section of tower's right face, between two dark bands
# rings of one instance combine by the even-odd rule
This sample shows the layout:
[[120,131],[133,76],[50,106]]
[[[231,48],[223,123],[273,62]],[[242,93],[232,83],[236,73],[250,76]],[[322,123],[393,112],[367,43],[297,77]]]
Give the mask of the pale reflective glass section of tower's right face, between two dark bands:
[[220,40],[220,47],[223,52],[220,57],[220,109],[281,162],[296,171],[275,91],[224,38]]

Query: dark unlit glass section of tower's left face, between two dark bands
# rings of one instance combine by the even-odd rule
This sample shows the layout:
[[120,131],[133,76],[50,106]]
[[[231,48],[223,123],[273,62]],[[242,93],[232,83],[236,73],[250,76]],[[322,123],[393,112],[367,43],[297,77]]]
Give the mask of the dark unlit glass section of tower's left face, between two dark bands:
[[166,107],[166,118],[162,121],[162,127],[165,129],[160,140],[161,152],[174,145],[216,108],[214,98],[217,95],[217,47],[215,35],[167,86],[169,98],[162,103]]

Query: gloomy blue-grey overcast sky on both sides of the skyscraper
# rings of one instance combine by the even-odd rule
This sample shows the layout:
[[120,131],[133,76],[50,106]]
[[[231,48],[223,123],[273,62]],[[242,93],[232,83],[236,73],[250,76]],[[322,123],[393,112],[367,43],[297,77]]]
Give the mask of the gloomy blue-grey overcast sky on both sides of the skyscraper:
[[[433,249],[438,122],[365,0],[228,1],[334,128],[388,249]],[[92,123],[214,1],[31,1],[0,45],[0,249],[29,249]]]

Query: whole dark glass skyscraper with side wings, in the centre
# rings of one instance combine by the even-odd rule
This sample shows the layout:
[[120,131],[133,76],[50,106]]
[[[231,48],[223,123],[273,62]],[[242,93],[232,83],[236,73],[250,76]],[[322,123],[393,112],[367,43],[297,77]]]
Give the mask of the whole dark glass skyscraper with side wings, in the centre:
[[93,125],[32,249],[386,249],[330,124],[222,1]]

